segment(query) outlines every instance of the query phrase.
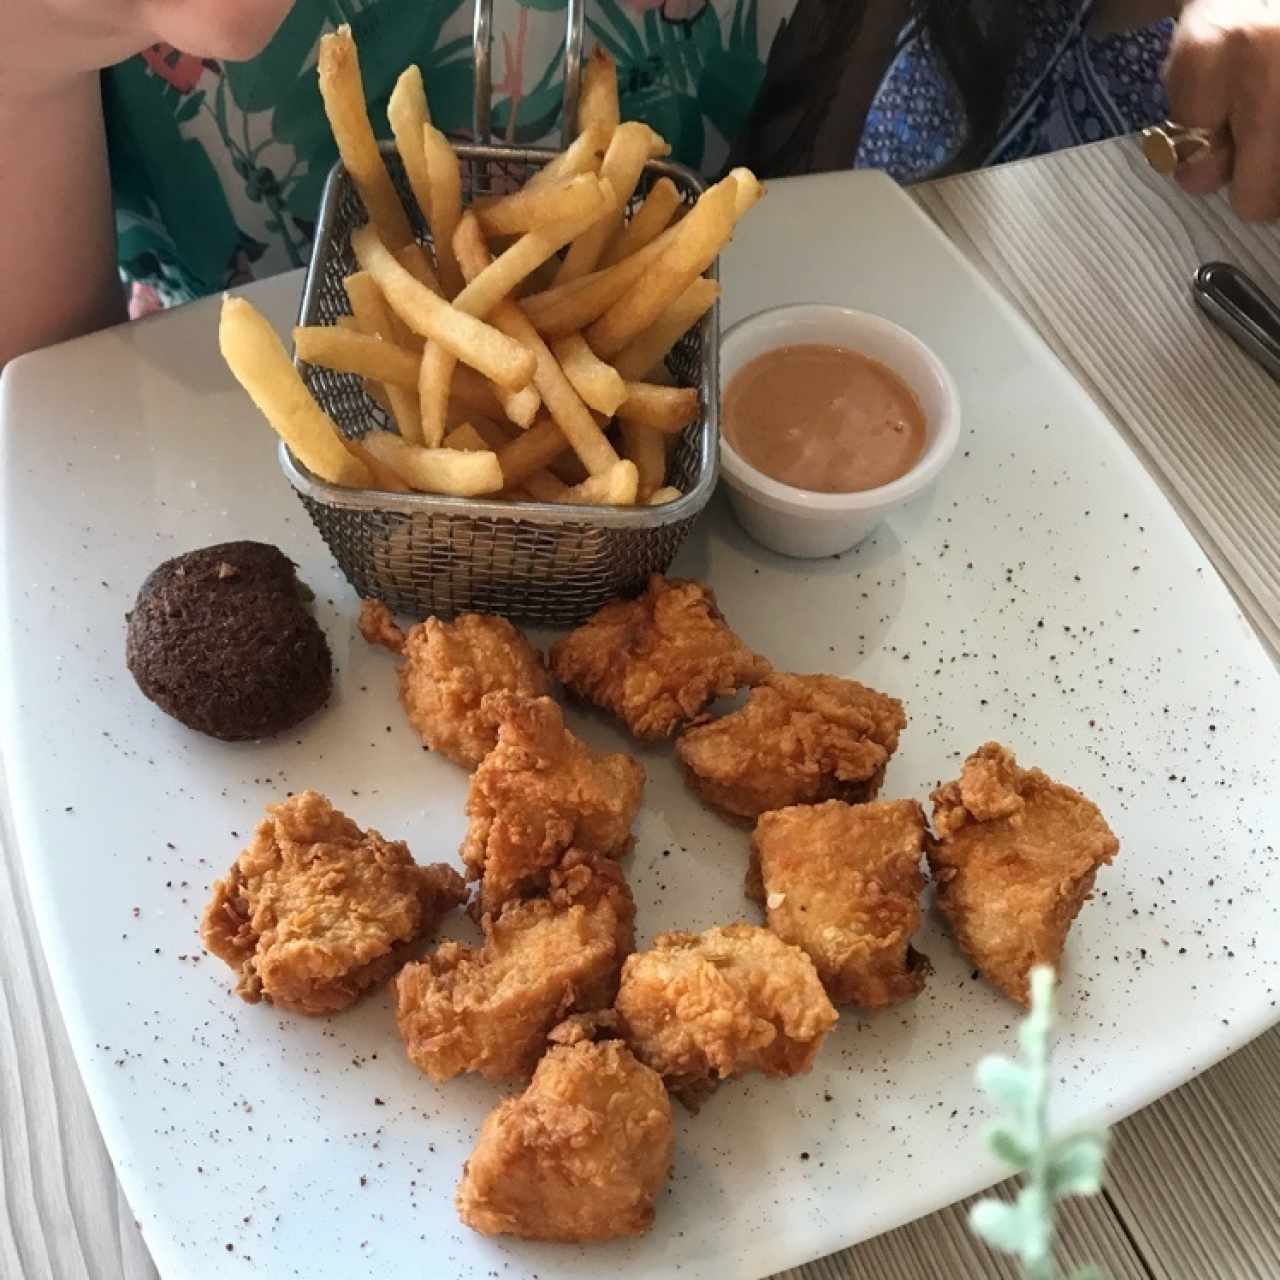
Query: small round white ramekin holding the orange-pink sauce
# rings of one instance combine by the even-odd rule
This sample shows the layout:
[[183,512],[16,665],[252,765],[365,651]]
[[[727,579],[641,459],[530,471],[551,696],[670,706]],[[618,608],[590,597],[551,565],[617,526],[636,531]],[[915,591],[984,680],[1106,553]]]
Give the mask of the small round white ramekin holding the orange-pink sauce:
[[774,307],[740,320],[721,342],[721,385],[750,360],[796,343],[860,351],[892,369],[924,411],[925,445],[905,476],[860,493],[814,493],[756,471],[721,430],[721,472],[739,524],[783,556],[835,556],[860,543],[891,511],[919,495],[960,440],[960,397],[942,361],[914,334],[881,316],[846,307]]

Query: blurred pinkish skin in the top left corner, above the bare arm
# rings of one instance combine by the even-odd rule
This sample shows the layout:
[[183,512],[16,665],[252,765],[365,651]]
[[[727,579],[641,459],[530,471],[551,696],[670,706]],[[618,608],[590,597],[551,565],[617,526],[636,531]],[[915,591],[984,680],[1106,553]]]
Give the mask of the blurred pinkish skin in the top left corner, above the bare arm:
[[56,92],[154,44],[252,58],[293,0],[8,0],[0,96]]

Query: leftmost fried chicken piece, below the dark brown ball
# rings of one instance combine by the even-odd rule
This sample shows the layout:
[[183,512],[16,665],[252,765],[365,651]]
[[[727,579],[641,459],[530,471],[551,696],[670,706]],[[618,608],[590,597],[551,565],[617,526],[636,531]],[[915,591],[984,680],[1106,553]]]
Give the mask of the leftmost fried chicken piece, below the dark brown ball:
[[200,936],[250,1004],[333,1014],[389,978],[407,946],[465,900],[452,867],[419,867],[407,845],[303,791],[268,805],[215,882]]

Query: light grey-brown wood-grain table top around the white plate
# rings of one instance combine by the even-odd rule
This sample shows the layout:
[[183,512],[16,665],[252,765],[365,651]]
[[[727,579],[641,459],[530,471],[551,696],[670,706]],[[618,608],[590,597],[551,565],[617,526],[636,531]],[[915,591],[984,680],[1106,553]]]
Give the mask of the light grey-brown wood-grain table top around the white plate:
[[[1190,298],[1210,259],[1280,294],[1280,229],[1245,227],[1219,198],[1187,200],[1132,141],[914,195],[1110,416],[1280,654],[1280,385]],[[1280,1028],[1114,1137],[1103,1194],[1065,1207],[1064,1266],[1094,1262],[1114,1280],[1280,1275]],[[67,1043],[4,803],[0,1189],[0,1276],[156,1276]],[[965,1210],[785,1277],[1014,1280],[969,1234]]]

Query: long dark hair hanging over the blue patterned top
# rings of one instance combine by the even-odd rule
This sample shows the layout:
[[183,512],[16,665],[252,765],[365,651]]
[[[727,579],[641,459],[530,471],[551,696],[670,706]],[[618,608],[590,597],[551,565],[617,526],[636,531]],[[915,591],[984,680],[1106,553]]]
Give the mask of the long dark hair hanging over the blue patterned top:
[[1020,0],[796,0],[730,164],[750,165],[764,178],[847,168],[899,33],[913,17],[965,111],[964,146],[948,169],[980,163],[1000,128],[1025,37]]

